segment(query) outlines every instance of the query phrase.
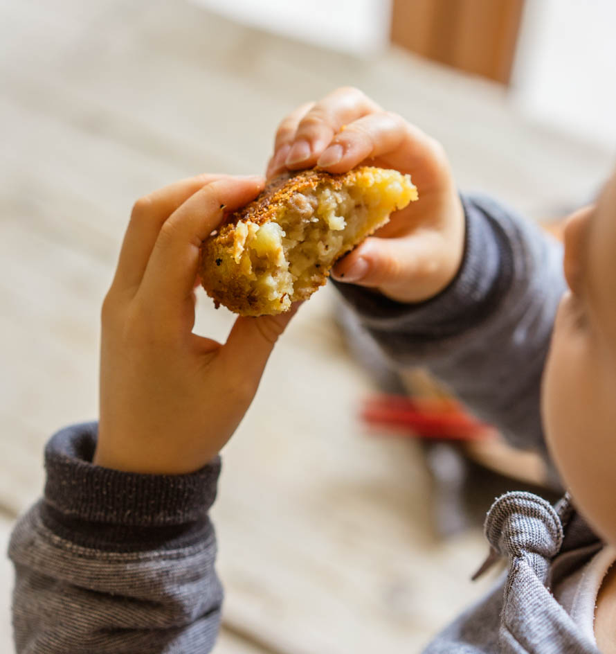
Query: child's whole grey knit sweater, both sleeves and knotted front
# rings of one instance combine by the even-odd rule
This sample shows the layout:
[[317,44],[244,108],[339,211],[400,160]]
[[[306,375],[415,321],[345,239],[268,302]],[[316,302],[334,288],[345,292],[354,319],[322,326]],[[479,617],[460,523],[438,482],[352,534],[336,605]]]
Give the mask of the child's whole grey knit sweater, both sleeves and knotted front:
[[[491,200],[464,205],[464,261],[438,297],[406,306],[338,288],[392,367],[428,366],[512,443],[547,457],[539,386],[564,290],[561,248]],[[192,475],[134,475],[93,466],[95,444],[96,423],[53,436],[44,497],[12,534],[17,652],[211,651],[222,590],[208,510],[219,461]],[[549,590],[601,547],[568,499],[552,507],[507,493],[485,529],[509,560],[506,578],[426,652],[596,654]],[[564,551],[568,567],[556,569]]]

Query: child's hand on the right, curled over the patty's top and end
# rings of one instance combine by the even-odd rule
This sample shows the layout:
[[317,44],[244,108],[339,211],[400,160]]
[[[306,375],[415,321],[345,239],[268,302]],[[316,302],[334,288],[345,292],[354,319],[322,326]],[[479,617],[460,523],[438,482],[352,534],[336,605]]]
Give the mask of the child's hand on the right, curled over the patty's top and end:
[[464,251],[464,211],[440,143],[342,88],[280,123],[267,176],[311,166],[345,173],[362,162],[410,173],[419,200],[340,260],[334,277],[400,302],[433,297],[453,280]]

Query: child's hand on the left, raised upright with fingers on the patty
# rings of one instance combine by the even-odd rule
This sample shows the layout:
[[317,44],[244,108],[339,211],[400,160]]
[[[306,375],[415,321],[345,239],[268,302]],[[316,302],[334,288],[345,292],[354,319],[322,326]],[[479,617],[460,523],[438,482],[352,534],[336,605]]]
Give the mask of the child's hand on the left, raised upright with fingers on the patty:
[[193,472],[215,457],[250,405],[293,311],[240,317],[226,344],[192,333],[199,245],[263,179],[201,175],[135,204],[102,307],[94,463]]

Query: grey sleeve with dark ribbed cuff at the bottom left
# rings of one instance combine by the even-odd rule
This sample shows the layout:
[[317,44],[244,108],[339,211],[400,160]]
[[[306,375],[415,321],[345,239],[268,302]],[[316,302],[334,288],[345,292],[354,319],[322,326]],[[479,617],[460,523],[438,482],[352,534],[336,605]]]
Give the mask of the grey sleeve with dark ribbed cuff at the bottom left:
[[17,653],[211,651],[219,459],[191,475],[110,470],[91,463],[96,433],[90,423],[53,436],[44,497],[12,533]]

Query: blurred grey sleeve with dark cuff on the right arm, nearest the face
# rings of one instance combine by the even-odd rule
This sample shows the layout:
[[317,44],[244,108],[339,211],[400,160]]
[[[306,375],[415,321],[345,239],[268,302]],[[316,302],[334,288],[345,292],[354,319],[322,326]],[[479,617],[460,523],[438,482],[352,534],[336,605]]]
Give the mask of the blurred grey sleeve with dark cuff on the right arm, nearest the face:
[[392,367],[430,369],[511,444],[536,450],[550,463],[539,405],[565,290],[562,247],[487,197],[462,202],[462,266],[437,297],[409,305],[359,286],[336,287],[355,325],[377,342]]

